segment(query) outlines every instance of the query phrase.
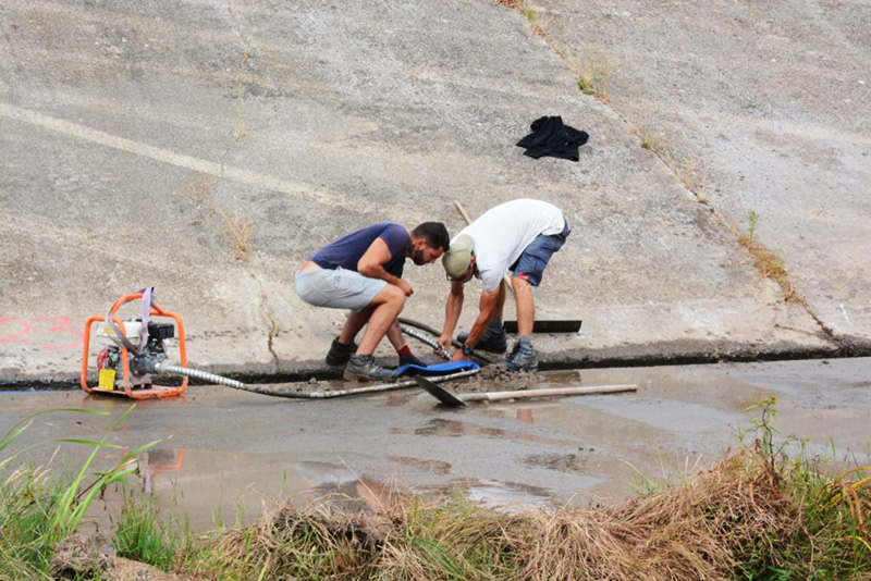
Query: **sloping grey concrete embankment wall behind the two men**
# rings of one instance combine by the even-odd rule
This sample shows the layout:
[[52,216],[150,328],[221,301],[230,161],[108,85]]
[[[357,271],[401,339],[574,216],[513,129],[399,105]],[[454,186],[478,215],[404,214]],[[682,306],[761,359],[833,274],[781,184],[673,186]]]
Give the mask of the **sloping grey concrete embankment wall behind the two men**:
[[[868,8],[533,8],[5,2],[0,383],[73,383],[86,318],[146,285],[192,364],[328,376],[344,316],[299,261],[381,220],[457,232],[454,199],[563,208],[538,314],[585,322],[545,367],[871,353]],[[590,134],[578,163],[515,147],[542,115]],[[739,244],[750,210],[800,300]],[[441,268],[406,272],[440,326]]]

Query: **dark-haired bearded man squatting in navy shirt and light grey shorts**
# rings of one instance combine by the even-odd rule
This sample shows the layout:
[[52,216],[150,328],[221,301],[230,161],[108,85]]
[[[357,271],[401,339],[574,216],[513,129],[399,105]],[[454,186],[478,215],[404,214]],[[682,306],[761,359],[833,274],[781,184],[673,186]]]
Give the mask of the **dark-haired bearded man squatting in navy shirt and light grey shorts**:
[[[342,333],[327,354],[329,364],[345,366],[346,380],[385,380],[392,371],[375,363],[372,353],[384,335],[400,364],[420,363],[402,336],[398,316],[414,288],[402,279],[405,260],[431,264],[447,250],[441,222],[425,222],[410,233],[394,222],[352,232],[312,252],[296,273],[299,297],[310,305],[351,309]],[[359,346],[357,333],[366,325]]]

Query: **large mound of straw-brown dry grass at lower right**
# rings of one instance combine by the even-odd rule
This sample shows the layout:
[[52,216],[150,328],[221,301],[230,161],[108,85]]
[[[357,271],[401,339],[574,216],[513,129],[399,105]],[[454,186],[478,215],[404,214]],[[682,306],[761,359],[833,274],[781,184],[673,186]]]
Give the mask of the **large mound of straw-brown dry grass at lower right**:
[[[744,548],[797,511],[764,467],[739,454],[695,481],[614,508],[528,517],[523,579],[723,579]],[[771,547],[763,547],[771,551]],[[554,577],[550,577],[553,574]]]

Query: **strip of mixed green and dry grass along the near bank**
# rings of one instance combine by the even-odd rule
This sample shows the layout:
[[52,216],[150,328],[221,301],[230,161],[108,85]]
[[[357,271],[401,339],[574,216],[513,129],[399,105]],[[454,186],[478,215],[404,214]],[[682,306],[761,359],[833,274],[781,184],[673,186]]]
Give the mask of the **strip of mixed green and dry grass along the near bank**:
[[[871,579],[871,467],[832,477],[818,460],[787,458],[773,399],[760,408],[753,444],[615,506],[505,515],[396,496],[360,515],[286,504],[192,543],[131,496],[113,545],[204,580]],[[0,475],[0,579],[46,577],[58,541],[46,531],[71,484],[27,469]]]

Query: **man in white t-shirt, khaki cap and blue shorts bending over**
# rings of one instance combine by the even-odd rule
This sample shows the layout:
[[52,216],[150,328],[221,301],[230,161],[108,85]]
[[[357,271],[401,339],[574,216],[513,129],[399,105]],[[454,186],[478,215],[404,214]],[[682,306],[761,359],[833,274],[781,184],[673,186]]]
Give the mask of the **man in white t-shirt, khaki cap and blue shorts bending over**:
[[501,203],[466,226],[451,240],[451,248],[442,257],[451,293],[439,344],[445,349],[451,346],[463,310],[463,288],[474,276],[483,283],[478,318],[467,335],[457,337],[464,345],[454,354],[454,359],[465,359],[475,348],[505,353],[502,311],[506,286],[503,276],[511,272],[517,302],[517,343],[506,366],[512,371],[538,369],[532,348],[536,319],[532,287],[541,283],[548,261],[571,232],[557,207],[527,198]]

